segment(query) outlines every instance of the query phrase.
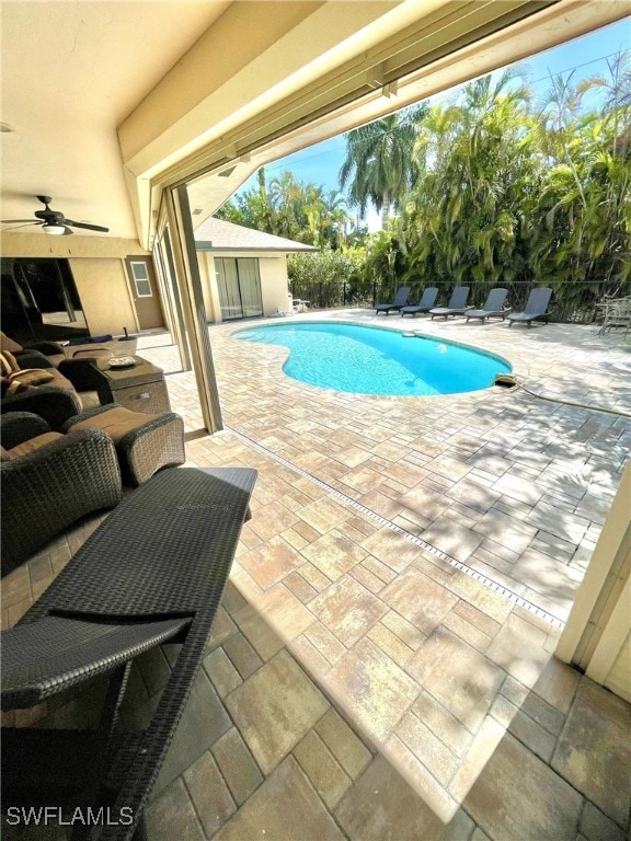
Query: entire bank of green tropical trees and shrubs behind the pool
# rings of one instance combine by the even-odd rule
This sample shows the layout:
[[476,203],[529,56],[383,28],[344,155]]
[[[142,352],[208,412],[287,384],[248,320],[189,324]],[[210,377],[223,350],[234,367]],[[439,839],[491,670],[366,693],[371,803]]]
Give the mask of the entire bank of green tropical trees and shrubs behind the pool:
[[[318,306],[402,283],[466,284],[475,300],[507,286],[515,306],[540,284],[589,318],[603,296],[631,293],[630,141],[631,53],[580,84],[551,78],[542,101],[509,69],[351,131],[346,195],[261,171],[221,215],[322,249],[289,264],[294,295]],[[349,211],[368,206],[383,226],[369,235]]]

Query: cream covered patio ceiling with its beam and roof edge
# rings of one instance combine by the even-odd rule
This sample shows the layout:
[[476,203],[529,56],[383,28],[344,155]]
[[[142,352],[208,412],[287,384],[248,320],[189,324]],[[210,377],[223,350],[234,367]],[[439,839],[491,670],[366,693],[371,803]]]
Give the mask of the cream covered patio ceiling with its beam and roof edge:
[[260,165],[619,20],[630,4],[2,0],[0,10],[11,129],[2,218],[30,219],[45,194],[150,247],[164,186],[206,173],[190,189],[203,220]]

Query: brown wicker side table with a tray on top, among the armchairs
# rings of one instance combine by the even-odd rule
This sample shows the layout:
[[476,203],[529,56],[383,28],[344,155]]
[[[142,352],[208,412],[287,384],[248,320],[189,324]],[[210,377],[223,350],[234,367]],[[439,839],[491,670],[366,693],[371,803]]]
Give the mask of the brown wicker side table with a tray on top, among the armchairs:
[[94,359],[99,370],[99,400],[101,405],[118,403],[133,412],[170,412],[169,392],[164,372],[151,362],[135,356],[136,365],[129,368],[111,368],[108,359]]

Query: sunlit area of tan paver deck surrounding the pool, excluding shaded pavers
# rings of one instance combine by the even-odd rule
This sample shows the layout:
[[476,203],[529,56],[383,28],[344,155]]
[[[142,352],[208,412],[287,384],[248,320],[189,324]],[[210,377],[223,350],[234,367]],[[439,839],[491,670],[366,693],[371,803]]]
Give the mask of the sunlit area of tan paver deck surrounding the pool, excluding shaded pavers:
[[[363,310],[294,318],[323,316],[376,322]],[[503,736],[501,688],[508,677],[532,688],[550,659],[631,420],[523,390],[317,389],[282,372],[286,349],[231,338],[242,326],[210,329],[231,431],[190,445],[197,464],[237,459],[262,473],[234,585],[447,820]],[[629,350],[594,327],[414,329],[498,353],[547,396],[631,411]],[[177,405],[186,387],[190,375],[170,378]],[[426,726],[428,703],[455,736]]]

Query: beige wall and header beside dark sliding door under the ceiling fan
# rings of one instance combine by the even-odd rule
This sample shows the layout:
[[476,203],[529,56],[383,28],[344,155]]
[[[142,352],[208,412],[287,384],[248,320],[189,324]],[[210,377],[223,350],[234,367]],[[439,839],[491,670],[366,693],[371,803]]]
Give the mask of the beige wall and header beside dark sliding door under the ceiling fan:
[[125,257],[147,254],[134,240],[107,237],[49,237],[45,233],[2,238],[4,257],[61,257],[68,260],[81,299],[83,315],[94,336],[138,330]]

